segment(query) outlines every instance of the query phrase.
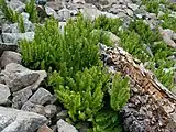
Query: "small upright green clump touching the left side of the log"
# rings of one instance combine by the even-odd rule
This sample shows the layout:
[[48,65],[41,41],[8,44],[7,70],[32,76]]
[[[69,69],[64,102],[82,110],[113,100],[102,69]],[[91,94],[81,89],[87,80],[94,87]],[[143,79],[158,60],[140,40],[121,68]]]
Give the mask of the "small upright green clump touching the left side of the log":
[[114,75],[109,94],[111,108],[116,111],[120,111],[130,98],[130,86],[128,82],[128,77],[122,78],[119,73]]

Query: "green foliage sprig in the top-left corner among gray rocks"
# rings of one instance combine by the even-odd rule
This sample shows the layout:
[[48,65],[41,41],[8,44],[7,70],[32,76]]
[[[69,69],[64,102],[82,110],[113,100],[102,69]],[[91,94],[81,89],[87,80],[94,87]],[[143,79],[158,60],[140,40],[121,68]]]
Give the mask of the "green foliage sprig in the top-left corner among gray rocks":
[[19,13],[9,8],[4,0],[0,0],[0,9],[2,10],[6,19],[8,19],[10,22],[19,21]]

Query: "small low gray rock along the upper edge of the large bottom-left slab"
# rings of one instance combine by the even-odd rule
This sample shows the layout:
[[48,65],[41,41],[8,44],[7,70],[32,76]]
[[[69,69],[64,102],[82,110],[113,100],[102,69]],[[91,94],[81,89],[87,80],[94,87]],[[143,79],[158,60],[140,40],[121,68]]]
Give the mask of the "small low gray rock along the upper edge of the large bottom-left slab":
[[42,105],[36,105],[30,101],[26,101],[22,106],[21,110],[29,111],[29,112],[35,112],[35,113],[43,114],[43,116],[45,114],[45,110]]

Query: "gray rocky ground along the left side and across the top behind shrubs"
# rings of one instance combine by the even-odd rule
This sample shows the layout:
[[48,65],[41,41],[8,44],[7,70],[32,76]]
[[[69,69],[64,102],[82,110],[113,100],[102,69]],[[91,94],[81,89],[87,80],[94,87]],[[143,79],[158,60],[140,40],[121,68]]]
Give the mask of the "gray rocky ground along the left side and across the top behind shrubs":
[[[84,15],[95,19],[105,14],[108,18],[125,20],[123,25],[135,18],[144,18],[151,29],[160,23],[163,12],[148,13],[141,0],[48,0],[44,9],[36,0],[37,9],[54,15],[64,28],[69,18],[80,11]],[[34,38],[34,23],[29,21],[24,12],[25,0],[10,0],[8,4],[24,19],[25,33],[20,33],[16,23],[3,21],[0,11],[0,131],[1,132],[78,132],[65,121],[67,110],[56,106],[56,96],[43,86],[47,73],[31,70],[22,66],[22,57],[18,52],[18,41]],[[173,2],[175,2],[173,0]],[[162,7],[162,6],[161,6]],[[173,11],[176,16],[176,12]],[[160,29],[163,40],[168,46],[176,48],[176,33],[169,29]],[[79,130],[86,132],[86,125]]]

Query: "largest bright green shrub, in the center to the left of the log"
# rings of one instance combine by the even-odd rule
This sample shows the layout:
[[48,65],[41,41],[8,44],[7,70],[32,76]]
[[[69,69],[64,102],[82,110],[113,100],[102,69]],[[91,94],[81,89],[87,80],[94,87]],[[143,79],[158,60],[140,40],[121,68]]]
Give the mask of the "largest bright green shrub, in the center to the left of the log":
[[[121,79],[118,79],[120,85],[117,86],[114,81],[110,85],[113,79],[107,70],[102,69],[97,45],[99,42],[110,44],[110,41],[101,30],[95,31],[90,20],[80,14],[68,21],[64,33],[58,29],[59,23],[53,18],[48,19],[44,25],[36,24],[34,40],[32,42],[24,40],[20,43],[23,63],[33,69],[42,68],[51,72],[47,87],[54,89],[58,100],[68,109],[72,121],[94,122],[97,113],[106,109],[105,105],[110,103],[106,98],[109,95],[108,89],[112,87],[111,90],[116,94],[122,94],[122,90],[118,90],[119,86],[125,87],[128,82],[122,80],[121,84]],[[124,87],[122,89],[127,92]],[[118,100],[119,98],[113,94],[109,96],[112,97],[111,106],[116,110],[127,103],[125,99]],[[111,109],[111,111],[114,110]],[[111,119],[109,125],[100,127],[105,131],[119,128],[117,113],[111,111],[108,113]],[[97,120],[94,127],[98,125],[100,121]],[[95,129],[95,131],[99,130]]]

